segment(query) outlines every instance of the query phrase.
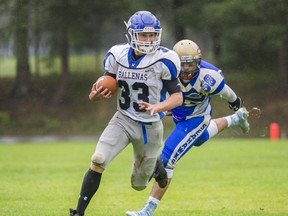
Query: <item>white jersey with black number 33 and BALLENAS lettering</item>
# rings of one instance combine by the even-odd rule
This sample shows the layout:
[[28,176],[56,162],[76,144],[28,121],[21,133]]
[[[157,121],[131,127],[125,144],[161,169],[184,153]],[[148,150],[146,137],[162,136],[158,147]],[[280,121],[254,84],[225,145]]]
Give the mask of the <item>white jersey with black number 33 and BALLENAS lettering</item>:
[[164,113],[153,116],[139,110],[138,101],[156,104],[165,99],[162,80],[179,75],[181,63],[178,55],[165,47],[153,54],[134,60],[129,44],[113,46],[104,60],[105,71],[115,74],[118,81],[117,109],[135,121],[159,121]]

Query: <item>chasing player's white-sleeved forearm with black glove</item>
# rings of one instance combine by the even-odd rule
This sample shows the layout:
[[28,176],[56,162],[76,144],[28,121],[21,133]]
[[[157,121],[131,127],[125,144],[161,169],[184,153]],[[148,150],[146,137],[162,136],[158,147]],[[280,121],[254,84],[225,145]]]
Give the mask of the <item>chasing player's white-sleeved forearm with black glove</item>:
[[227,85],[219,92],[219,94],[228,101],[229,108],[237,111],[242,107],[242,99],[236,95],[236,93]]

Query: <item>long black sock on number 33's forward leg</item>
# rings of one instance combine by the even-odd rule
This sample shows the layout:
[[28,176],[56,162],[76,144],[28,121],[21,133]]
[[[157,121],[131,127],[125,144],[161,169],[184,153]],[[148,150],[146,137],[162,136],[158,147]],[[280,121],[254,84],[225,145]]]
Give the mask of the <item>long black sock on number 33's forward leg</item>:
[[84,212],[99,188],[102,173],[89,169],[83,179],[80,195],[78,198],[77,212],[84,215]]

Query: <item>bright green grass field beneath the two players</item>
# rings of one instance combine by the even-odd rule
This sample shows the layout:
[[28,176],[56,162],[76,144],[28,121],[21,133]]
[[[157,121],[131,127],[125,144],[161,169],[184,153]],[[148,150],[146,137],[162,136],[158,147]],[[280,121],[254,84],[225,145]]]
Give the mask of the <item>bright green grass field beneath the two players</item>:
[[[93,142],[0,145],[0,215],[67,216],[75,207]],[[132,148],[107,168],[86,215],[125,215],[151,185],[130,187]],[[179,162],[155,216],[288,215],[288,143],[214,139]]]

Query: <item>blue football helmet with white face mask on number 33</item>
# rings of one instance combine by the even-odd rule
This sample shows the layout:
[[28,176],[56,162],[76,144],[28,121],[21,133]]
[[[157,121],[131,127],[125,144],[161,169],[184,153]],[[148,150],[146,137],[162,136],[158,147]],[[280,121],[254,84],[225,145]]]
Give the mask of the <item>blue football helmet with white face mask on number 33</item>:
[[[149,11],[138,11],[133,14],[128,22],[124,21],[127,33],[125,34],[130,47],[144,53],[154,53],[160,46],[161,42],[161,26],[160,21]],[[155,33],[153,42],[144,42],[138,40],[139,33]]]

